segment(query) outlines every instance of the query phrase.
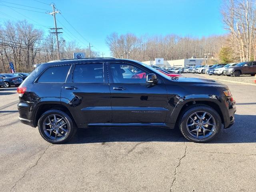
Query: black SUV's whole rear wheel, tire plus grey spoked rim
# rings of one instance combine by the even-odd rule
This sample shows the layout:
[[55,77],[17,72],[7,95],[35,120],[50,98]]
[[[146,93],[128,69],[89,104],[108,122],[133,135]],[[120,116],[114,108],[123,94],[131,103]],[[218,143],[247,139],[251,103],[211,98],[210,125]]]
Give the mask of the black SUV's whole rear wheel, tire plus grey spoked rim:
[[[60,120],[61,118],[62,120]],[[58,123],[56,122],[56,124],[54,124],[55,120],[60,121],[57,121]],[[62,144],[68,142],[74,136],[77,128],[74,126],[73,121],[68,114],[61,110],[53,109],[44,112],[39,118],[38,130],[42,138],[47,142],[52,144]],[[56,136],[57,132],[58,134]]]

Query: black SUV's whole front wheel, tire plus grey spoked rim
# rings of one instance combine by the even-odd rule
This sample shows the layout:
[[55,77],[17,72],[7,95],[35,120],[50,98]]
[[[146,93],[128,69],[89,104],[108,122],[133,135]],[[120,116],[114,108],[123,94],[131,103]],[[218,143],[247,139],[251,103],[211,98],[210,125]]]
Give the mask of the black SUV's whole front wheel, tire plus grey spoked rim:
[[[196,122],[196,124],[191,125],[191,121],[192,119],[190,118],[192,116],[192,118],[194,117],[193,114],[198,114],[200,116],[200,114],[205,114],[204,118],[200,121],[200,123],[198,124],[197,120],[200,120],[199,118],[194,119],[194,122]],[[210,116],[212,116],[210,118]],[[195,115],[196,117],[196,115]],[[202,116],[200,116],[201,118]],[[205,122],[204,122],[204,121]],[[206,127],[206,123],[209,121],[209,124],[212,125],[207,125]],[[192,121],[193,122],[193,121]],[[204,123],[202,123],[204,122]],[[205,124],[205,126],[203,126],[202,124]],[[214,126],[215,124],[215,126]],[[216,110],[214,110],[213,108],[206,106],[206,105],[196,105],[196,106],[191,106],[189,108],[187,108],[184,113],[182,114],[180,120],[179,120],[179,128],[181,133],[183,134],[183,136],[192,141],[192,142],[197,142],[197,143],[203,143],[203,142],[208,142],[212,139],[214,139],[218,133],[220,132],[221,126],[222,126],[222,122],[221,122],[221,118],[220,115],[218,114],[218,112],[216,112]],[[207,130],[209,131],[207,131]],[[194,131],[195,130],[195,131]],[[204,135],[204,131],[205,131],[205,135]],[[197,135],[198,134],[198,135]]]

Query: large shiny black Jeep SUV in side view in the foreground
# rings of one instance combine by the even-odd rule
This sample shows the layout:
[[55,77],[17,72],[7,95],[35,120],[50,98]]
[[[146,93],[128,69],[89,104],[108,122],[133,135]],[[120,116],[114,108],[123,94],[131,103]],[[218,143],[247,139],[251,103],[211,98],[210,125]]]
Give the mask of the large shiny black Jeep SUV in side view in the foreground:
[[67,142],[77,128],[179,127],[193,142],[234,123],[235,101],[224,84],[170,78],[133,60],[58,60],[38,67],[18,87],[20,120],[48,142]]

